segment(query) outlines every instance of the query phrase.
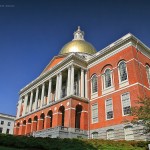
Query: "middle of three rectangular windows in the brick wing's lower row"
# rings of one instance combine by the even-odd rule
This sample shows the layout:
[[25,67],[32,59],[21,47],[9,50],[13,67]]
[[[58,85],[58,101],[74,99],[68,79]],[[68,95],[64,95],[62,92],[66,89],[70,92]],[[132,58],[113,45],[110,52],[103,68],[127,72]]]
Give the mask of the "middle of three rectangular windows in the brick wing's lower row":
[[106,100],[106,118],[112,119],[113,118],[113,107],[112,107],[112,99]]

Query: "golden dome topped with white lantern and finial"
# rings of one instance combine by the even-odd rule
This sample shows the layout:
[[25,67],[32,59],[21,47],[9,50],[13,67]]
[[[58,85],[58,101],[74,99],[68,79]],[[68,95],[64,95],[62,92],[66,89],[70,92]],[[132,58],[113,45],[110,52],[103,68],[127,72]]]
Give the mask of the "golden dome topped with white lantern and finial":
[[72,52],[80,52],[80,53],[87,53],[87,54],[94,54],[96,53],[95,48],[88,42],[84,40],[84,32],[78,30],[74,32],[74,39],[65,44],[60,51],[60,54],[72,53]]

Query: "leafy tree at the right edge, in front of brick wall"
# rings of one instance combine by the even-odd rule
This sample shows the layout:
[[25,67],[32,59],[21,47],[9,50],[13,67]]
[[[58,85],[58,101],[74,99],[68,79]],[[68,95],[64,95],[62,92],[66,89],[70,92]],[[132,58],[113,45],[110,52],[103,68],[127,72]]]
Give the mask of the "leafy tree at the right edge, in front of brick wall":
[[144,126],[144,132],[150,133],[150,97],[139,98],[137,106],[131,108],[133,124]]

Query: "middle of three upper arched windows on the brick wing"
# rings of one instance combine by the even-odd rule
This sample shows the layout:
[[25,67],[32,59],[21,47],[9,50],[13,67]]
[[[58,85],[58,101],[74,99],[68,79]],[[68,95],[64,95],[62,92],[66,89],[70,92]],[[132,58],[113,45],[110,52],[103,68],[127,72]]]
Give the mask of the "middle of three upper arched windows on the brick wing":
[[112,77],[111,77],[111,70],[106,69],[105,71],[105,88],[112,86]]

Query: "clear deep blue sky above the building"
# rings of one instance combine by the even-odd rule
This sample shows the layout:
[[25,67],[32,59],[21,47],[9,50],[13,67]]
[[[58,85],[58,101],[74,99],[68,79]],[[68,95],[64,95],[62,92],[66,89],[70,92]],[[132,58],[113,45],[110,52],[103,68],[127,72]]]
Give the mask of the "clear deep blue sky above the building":
[[77,26],[97,51],[131,32],[150,47],[149,0],[0,0],[0,112],[16,114],[35,79]]

